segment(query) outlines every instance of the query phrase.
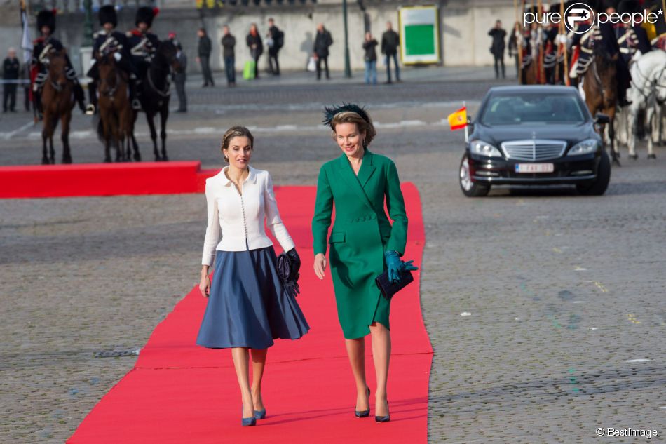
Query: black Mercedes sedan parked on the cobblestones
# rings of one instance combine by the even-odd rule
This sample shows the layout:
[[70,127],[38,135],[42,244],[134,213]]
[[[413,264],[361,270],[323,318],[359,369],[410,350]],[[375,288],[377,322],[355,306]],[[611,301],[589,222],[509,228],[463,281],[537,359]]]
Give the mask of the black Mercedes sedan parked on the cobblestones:
[[599,125],[575,88],[498,86],[481,102],[460,163],[465,196],[485,196],[494,185],[573,184],[602,195],[611,178]]

